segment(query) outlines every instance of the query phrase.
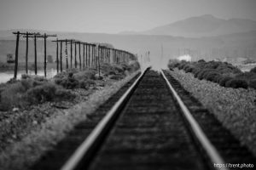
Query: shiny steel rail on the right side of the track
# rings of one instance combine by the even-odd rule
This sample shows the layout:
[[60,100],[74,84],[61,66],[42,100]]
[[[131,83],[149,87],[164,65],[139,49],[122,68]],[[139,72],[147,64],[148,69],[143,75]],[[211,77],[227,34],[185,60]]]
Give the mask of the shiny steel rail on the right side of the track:
[[[177,100],[177,104],[180,106],[181,110],[183,111],[183,116],[185,117],[186,121],[189,122],[189,126],[191,127],[192,133],[194,133],[196,139],[201,144],[203,149],[207,152],[207,156],[212,161],[212,166],[214,163],[225,165],[224,159],[218,154],[216,148],[212,145],[209,139],[207,139],[207,135],[203,132],[200,125],[195,121],[195,118],[191,115],[188,107],[183,103],[183,100],[178,96],[177,92],[174,88],[172,88],[171,83],[166,78],[165,73],[161,70],[160,71],[162,77],[165,79],[168,87],[172,91],[174,98]],[[221,170],[228,170],[228,167],[214,167],[215,169]]]

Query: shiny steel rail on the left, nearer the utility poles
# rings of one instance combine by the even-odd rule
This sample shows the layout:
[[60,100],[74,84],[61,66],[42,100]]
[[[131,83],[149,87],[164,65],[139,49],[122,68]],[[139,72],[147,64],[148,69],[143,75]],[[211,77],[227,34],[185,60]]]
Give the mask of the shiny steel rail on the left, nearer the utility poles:
[[144,69],[141,75],[137,78],[135,82],[132,83],[131,87],[121,96],[121,98],[113,105],[113,107],[108,111],[106,116],[104,116],[99,122],[90,135],[84,140],[82,144],[79,145],[77,150],[74,151],[73,155],[67,160],[64,166],[61,167],[61,170],[74,170],[79,166],[79,161],[81,161],[84,156],[86,156],[90,151],[90,148],[93,147],[93,144],[96,140],[100,139],[100,135],[104,128],[108,127],[108,123],[113,120],[113,117],[119,114],[119,109],[125,104],[127,97],[130,96],[134,89],[137,87],[137,84],[141,81],[145,75],[148,68]]

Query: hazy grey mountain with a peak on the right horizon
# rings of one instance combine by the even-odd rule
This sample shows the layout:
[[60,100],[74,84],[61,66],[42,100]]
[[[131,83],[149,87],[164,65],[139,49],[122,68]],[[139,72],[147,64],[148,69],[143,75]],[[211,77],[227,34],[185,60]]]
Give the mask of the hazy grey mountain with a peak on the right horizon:
[[[137,34],[169,35],[175,37],[216,37],[225,34],[256,31],[256,21],[245,19],[218,19],[211,14],[179,20]],[[132,33],[134,34],[134,32]]]

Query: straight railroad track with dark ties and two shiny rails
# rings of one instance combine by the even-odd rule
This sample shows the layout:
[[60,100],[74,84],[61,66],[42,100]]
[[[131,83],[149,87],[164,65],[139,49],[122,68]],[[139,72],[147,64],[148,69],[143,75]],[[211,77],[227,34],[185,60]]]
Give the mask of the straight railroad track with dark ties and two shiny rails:
[[214,163],[255,158],[166,71],[147,69],[32,169],[228,169]]

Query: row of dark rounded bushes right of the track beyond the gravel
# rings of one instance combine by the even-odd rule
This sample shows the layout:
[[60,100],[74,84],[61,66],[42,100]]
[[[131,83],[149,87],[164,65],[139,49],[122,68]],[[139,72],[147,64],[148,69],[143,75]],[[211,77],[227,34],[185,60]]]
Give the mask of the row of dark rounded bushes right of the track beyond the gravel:
[[199,80],[216,82],[225,88],[254,88],[256,89],[256,67],[249,72],[242,72],[236,66],[227,62],[200,59],[197,62],[170,60],[170,70],[177,68],[191,72]]

